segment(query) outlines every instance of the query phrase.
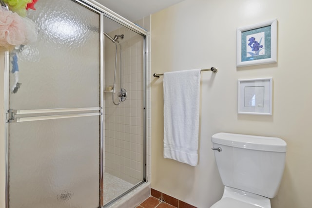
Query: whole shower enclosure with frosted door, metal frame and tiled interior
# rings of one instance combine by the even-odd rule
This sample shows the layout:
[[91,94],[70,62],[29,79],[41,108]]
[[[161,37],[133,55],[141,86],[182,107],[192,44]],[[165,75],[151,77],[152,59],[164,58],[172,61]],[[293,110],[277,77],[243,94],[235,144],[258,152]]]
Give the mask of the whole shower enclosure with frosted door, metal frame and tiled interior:
[[36,9],[5,58],[6,208],[107,207],[146,181],[147,33],[93,0]]

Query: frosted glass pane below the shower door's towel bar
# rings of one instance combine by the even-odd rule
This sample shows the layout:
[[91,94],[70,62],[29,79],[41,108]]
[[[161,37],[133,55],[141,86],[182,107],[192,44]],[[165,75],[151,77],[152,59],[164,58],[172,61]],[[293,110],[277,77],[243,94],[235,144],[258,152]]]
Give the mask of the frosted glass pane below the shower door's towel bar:
[[10,208],[98,208],[98,121],[11,123]]

